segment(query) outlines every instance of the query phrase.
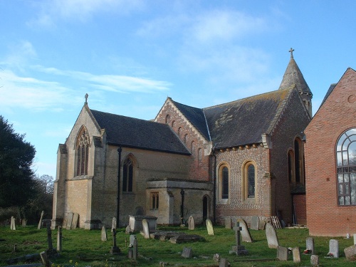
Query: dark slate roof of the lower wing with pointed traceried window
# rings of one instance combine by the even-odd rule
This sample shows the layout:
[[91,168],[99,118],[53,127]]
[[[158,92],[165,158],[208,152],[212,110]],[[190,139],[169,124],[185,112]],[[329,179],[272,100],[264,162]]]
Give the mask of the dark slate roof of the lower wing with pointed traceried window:
[[110,145],[190,155],[167,124],[90,110]]

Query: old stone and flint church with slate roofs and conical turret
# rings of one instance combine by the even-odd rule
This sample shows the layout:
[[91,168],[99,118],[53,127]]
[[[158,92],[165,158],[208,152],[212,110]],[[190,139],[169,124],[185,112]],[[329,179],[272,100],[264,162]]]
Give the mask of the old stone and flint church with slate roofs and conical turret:
[[[278,90],[207,108],[167,100],[154,120],[91,110],[88,95],[58,147],[55,227],[70,212],[79,226],[117,216],[197,224],[226,216],[278,216],[305,224],[304,133],[313,97],[290,50]],[[356,125],[355,125],[356,126]]]

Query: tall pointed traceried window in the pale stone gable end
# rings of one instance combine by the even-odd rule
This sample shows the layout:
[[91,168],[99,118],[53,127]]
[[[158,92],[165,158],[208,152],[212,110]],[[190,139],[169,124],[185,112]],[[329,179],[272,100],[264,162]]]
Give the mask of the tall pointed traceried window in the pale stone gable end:
[[80,134],[78,135],[75,153],[77,157],[76,175],[87,175],[89,159],[89,135],[85,127],[82,127]]

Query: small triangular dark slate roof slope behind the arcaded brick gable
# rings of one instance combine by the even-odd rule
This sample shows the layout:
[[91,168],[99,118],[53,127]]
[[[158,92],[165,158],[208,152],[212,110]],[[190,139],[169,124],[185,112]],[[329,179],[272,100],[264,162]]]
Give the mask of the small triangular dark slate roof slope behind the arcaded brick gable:
[[189,105],[183,105],[181,103],[175,102],[170,98],[172,103],[179,109],[180,112],[189,120],[192,125],[203,135],[203,137],[210,141],[209,129],[206,125],[206,119],[204,111],[201,108],[190,107]]

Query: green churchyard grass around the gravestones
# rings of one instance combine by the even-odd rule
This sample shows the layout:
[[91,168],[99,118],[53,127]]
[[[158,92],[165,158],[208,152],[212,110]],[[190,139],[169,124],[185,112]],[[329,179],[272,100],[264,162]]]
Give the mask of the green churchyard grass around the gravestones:
[[[288,256],[288,261],[276,260],[276,249],[268,248],[265,231],[250,230],[253,243],[242,242],[248,250],[247,256],[229,254],[231,246],[235,244],[234,231],[223,226],[214,226],[214,236],[209,236],[204,226],[196,226],[192,231],[188,227],[159,227],[164,231],[184,231],[187,234],[198,234],[205,241],[185,244],[171,244],[169,241],[144,239],[135,233],[138,241],[138,252],[141,256],[137,261],[127,258],[130,236],[125,234],[125,228],[117,229],[117,246],[120,256],[109,253],[112,246],[112,236],[108,229],[108,241],[101,241],[100,230],[66,230],[63,229],[63,251],[61,256],[51,258],[53,267],[62,266],[159,266],[159,262],[169,263],[173,266],[181,263],[182,266],[219,266],[213,259],[214,253],[219,253],[221,258],[227,258],[231,266],[310,266],[310,256],[304,255],[305,239],[308,229],[278,229],[280,246],[300,247],[301,263],[294,264],[293,256]],[[53,248],[56,248],[57,230],[52,231]],[[7,260],[25,256],[26,254],[40,253],[48,248],[46,228],[40,230],[36,226],[16,226],[16,231],[11,231],[9,226],[0,226],[0,266],[7,266]],[[314,237],[315,252],[319,256],[320,266],[355,266],[355,261],[348,261],[343,253],[344,248],[352,246],[353,239],[335,238],[339,241],[340,258],[325,258],[329,251],[330,237]],[[16,252],[14,252],[16,245]],[[190,247],[193,258],[183,258],[184,247]],[[37,261],[39,262],[39,261]],[[19,263],[17,263],[19,264]]]

